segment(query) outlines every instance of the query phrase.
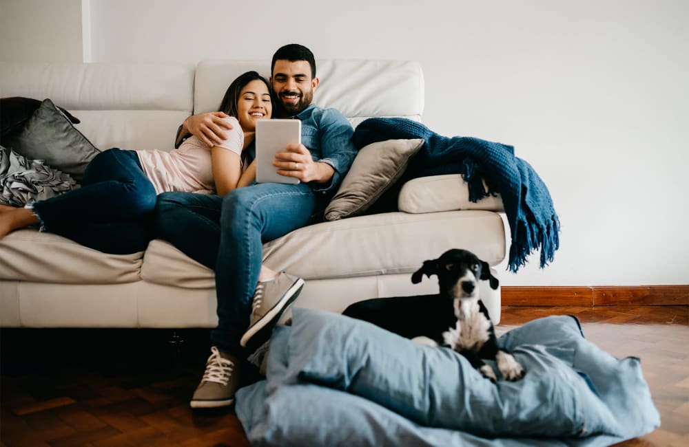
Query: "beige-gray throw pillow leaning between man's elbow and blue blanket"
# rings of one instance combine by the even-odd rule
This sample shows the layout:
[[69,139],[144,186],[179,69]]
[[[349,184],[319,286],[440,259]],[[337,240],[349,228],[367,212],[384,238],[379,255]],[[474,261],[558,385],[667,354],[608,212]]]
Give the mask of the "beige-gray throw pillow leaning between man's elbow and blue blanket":
[[362,147],[340,189],[325,208],[325,219],[353,217],[369,209],[402,176],[409,157],[423,145],[424,140],[418,138],[386,140]]

